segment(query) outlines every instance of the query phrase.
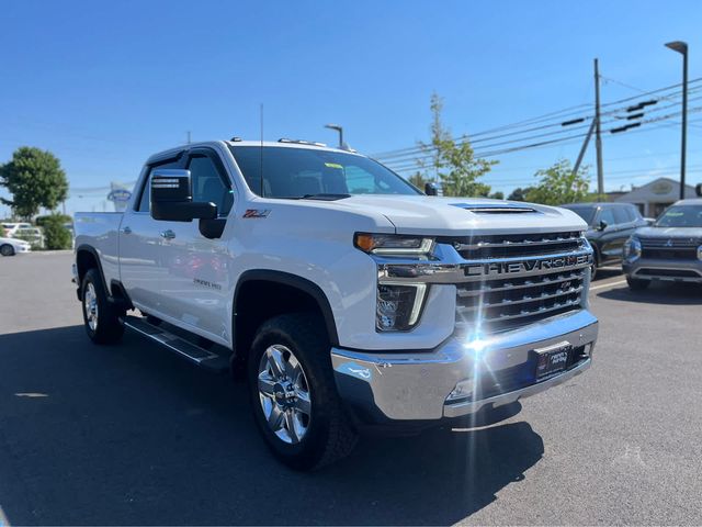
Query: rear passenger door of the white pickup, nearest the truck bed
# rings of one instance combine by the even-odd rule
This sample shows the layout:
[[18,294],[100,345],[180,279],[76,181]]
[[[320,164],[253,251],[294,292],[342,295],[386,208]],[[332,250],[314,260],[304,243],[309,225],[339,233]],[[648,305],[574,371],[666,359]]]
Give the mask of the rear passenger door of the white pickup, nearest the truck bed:
[[[184,158],[184,156],[182,156]],[[168,159],[145,168],[137,195],[124,211],[120,226],[120,277],[129,299],[140,311],[159,316],[166,301],[160,282],[168,271],[161,232],[165,222],[150,214],[149,182],[157,168],[181,168],[184,159]]]

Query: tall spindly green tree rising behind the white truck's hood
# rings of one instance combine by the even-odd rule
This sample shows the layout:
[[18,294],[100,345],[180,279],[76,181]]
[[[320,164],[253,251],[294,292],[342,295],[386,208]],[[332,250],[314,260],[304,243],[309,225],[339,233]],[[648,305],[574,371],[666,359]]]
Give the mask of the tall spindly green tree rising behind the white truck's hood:
[[419,142],[426,156],[417,161],[424,179],[433,180],[435,173],[441,180],[443,195],[487,197],[490,187],[478,178],[489,172],[497,161],[476,158],[467,137],[461,142],[451,137],[451,131],[441,122],[443,100],[437,93],[432,93],[429,108],[432,115],[431,142]]

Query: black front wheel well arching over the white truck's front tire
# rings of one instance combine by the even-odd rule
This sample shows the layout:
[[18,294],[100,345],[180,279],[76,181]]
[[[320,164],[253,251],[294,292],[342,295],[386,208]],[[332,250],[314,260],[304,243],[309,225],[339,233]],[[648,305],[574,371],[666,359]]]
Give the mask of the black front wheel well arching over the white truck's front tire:
[[[315,284],[309,282],[314,288]],[[256,332],[267,319],[284,313],[316,313],[325,321],[332,345],[338,337],[329,303],[319,299],[321,290],[305,290],[281,281],[253,279],[237,288],[234,305],[234,348],[237,359],[246,359]],[[321,305],[320,305],[321,304]],[[324,330],[324,329],[322,329]]]

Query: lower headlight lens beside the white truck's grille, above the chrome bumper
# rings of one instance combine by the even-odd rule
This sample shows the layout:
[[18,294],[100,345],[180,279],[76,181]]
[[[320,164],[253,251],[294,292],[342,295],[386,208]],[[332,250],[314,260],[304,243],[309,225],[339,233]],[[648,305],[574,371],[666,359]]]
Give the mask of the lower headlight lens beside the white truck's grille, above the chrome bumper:
[[427,285],[386,284],[377,287],[375,327],[378,332],[406,332],[419,322]]

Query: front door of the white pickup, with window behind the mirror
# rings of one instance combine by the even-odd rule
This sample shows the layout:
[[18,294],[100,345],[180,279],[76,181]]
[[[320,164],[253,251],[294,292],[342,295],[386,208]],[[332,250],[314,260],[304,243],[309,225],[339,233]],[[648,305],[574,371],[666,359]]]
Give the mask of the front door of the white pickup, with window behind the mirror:
[[[189,152],[184,168],[191,173],[193,201],[213,202],[218,216],[227,217],[234,192],[219,155],[212,148],[194,148]],[[157,223],[168,234],[163,239],[167,271],[160,284],[160,296],[168,299],[166,314],[200,330],[195,333],[204,330],[228,340],[233,284],[227,243],[204,237],[197,220]]]

